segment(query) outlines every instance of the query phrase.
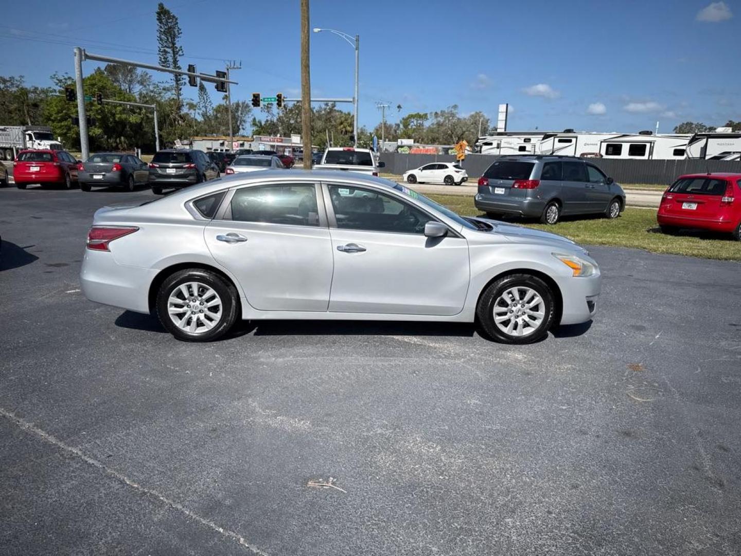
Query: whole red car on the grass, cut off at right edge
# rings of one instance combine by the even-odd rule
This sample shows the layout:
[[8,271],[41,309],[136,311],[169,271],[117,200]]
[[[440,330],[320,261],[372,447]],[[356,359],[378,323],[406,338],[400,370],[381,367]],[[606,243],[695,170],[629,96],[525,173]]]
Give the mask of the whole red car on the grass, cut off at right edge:
[[657,220],[665,233],[700,228],[741,239],[741,173],[679,176],[662,196]]

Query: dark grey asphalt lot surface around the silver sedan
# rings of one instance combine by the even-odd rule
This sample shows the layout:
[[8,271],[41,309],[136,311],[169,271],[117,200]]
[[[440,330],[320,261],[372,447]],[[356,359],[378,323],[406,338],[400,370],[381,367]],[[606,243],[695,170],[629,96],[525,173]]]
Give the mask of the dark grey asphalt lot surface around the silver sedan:
[[79,291],[93,211],[151,196],[0,189],[3,554],[741,552],[740,264],[592,248],[596,320],[528,346],[187,344]]

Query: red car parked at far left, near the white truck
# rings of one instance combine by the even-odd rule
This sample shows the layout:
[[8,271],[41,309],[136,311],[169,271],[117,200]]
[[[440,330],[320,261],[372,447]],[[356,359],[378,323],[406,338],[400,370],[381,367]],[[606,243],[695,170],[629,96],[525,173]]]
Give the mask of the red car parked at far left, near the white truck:
[[66,150],[21,150],[13,162],[13,179],[19,189],[32,183],[70,189],[77,181],[77,161]]

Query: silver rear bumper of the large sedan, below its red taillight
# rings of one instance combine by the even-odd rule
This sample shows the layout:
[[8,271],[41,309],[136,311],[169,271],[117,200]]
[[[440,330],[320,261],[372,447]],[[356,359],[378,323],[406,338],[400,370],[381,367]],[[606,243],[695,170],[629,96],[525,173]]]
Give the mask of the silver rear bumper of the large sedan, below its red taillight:
[[149,288],[157,271],[119,265],[107,251],[85,249],[80,271],[82,293],[90,301],[149,313]]

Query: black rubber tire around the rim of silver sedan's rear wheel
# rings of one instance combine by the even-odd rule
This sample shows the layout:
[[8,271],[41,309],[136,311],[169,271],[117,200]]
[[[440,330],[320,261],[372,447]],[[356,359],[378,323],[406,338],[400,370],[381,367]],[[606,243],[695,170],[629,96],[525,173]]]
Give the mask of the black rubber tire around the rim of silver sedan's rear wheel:
[[[170,318],[168,308],[170,296],[178,294],[180,286],[187,284],[188,282],[199,282],[208,288],[212,288],[222,300],[221,311],[219,312],[220,318],[210,330],[201,333],[185,331],[182,328],[179,328],[179,326]],[[190,293],[197,295],[191,290],[191,288],[187,287],[187,290]],[[199,288],[199,292],[202,291],[202,288]],[[178,295],[184,297],[182,294]],[[193,297],[193,299],[198,298]],[[202,302],[199,301],[198,306],[201,306],[201,303]],[[239,294],[237,293],[236,288],[220,277],[219,274],[203,270],[202,268],[187,268],[182,271],[177,271],[175,274],[165,279],[165,282],[162,283],[157,292],[156,307],[159,322],[162,322],[162,326],[164,326],[167,331],[178,340],[184,342],[210,342],[226,334],[234,322],[236,322],[237,317],[239,316]],[[183,318],[187,319],[186,324],[193,322],[193,319],[196,319],[196,322],[198,322],[197,326],[203,328],[199,322],[201,318],[199,317],[199,313],[202,313],[205,310],[207,311],[207,309],[204,308],[196,310],[195,312],[191,311],[191,314],[194,316],[188,315],[187,310],[184,311]],[[179,315],[176,315],[176,317],[177,316]]]

